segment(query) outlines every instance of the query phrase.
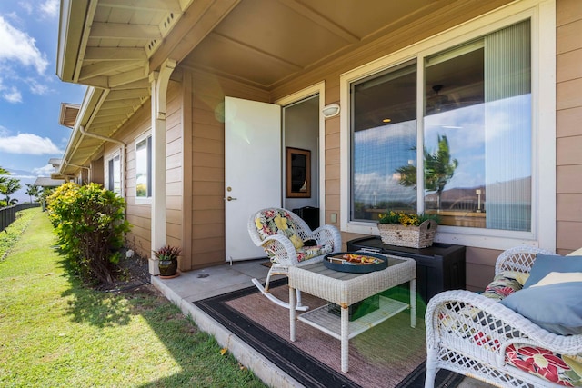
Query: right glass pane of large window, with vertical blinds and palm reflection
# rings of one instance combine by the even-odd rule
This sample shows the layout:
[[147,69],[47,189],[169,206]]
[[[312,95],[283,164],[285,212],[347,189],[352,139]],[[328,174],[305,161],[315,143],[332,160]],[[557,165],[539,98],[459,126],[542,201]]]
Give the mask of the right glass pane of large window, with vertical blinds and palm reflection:
[[425,152],[446,138],[457,161],[448,175],[425,165],[425,209],[441,224],[531,229],[528,36],[524,22],[426,59]]

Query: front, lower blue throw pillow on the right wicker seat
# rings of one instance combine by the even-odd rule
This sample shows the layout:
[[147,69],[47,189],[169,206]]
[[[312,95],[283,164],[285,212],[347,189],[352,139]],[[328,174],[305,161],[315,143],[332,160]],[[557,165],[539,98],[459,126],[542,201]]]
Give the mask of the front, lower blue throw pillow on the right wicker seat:
[[499,303],[548,332],[582,334],[582,282],[524,288]]

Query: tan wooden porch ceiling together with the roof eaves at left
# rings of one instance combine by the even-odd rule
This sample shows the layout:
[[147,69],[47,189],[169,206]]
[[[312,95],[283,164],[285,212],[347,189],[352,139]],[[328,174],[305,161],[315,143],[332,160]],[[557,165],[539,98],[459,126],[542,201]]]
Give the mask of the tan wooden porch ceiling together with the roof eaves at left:
[[[273,90],[379,36],[445,17],[468,3],[473,2],[62,0],[57,75],[93,86],[75,128],[110,137],[149,101],[148,75],[168,57]],[[103,143],[75,131],[61,173],[86,166]]]

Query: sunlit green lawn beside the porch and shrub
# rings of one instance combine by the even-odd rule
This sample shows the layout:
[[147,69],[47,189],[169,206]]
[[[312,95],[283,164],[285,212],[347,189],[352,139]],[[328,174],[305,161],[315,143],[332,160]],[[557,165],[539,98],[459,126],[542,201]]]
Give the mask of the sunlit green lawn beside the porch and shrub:
[[85,288],[66,272],[46,214],[23,213],[9,227],[19,240],[0,234],[0,386],[265,386],[151,285]]

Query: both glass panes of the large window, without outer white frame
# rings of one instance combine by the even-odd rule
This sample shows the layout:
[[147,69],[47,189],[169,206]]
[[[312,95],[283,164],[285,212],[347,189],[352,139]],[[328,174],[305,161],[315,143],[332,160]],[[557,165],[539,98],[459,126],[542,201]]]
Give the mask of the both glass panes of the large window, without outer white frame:
[[354,82],[352,219],[530,231],[530,47],[524,21]]

